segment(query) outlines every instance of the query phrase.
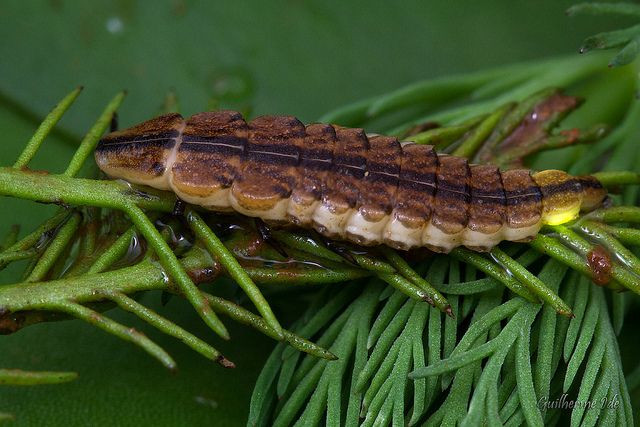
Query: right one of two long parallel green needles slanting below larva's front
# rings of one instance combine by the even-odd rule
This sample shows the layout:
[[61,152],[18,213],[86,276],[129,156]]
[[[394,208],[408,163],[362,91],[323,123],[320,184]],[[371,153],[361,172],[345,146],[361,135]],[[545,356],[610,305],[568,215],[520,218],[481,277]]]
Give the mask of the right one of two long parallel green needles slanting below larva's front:
[[269,303],[264,296],[262,296],[260,289],[253,283],[247,272],[240,266],[238,260],[234,258],[218,236],[216,236],[202,218],[200,218],[200,215],[192,209],[189,209],[186,218],[195,235],[204,242],[211,255],[224,266],[229,276],[231,276],[238,286],[247,294],[267,324],[276,332],[277,338],[279,340],[284,339],[282,326],[280,326],[278,319],[276,319],[276,316],[273,314]]

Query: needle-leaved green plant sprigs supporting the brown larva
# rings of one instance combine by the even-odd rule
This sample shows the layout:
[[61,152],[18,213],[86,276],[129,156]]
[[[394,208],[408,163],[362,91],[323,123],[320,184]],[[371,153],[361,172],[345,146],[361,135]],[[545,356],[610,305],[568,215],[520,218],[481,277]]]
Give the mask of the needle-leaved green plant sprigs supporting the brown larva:
[[[633,108],[605,139],[601,137],[606,127],[594,125],[592,117],[583,119],[585,131],[556,131],[578,102],[546,88],[602,78],[601,66],[602,58],[593,56],[451,77],[413,85],[330,116],[334,122],[377,127],[507,167],[559,147],[565,147],[564,158],[572,164],[584,152],[582,144],[590,144],[591,152],[611,156],[611,168],[630,168],[634,163],[625,163],[631,152],[628,141],[638,123]],[[256,245],[255,230],[247,223],[226,233],[220,225],[228,220],[197,211],[190,211],[181,222],[168,215],[175,203],[171,194],[76,177],[123,94],[107,106],[64,173],[29,171],[29,161],[77,93],[68,95],[45,119],[13,167],[0,167],[0,194],[61,205],[32,233],[20,238],[12,228],[4,239],[0,268],[20,259],[28,263],[20,283],[0,286],[3,332],[77,317],[174,368],[175,362],[161,347],[105,314],[115,304],[203,356],[232,366],[207,341],[133,298],[140,292],[163,290],[187,298],[223,338],[226,329],[217,314],[283,343],[256,385],[251,423],[311,424],[325,416],[329,422],[349,424],[400,423],[405,418],[411,424],[482,419],[557,422],[558,412],[537,402],[559,390],[575,391],[578,381],[593,389],[585,396],[580,388],[580,398],[617,395],[624,411],[605,415],[631,419],[615,338],[623,324],[625,297],[613,294],[609,304],[605,292],[579,277],[594,276],[585,256],[597,243],[626,260],[612,260],[606,276],[609,286],[638,292],[634,275],[639,262],[628,248],[639,245],[640,233],[623,232],[619,226],[638,223],[638,208],[600,210],[567,227],[544,231],[529,247],[504,244],[489,255],[458,249],[451,256],[418,261],[389,249],[354,251],[349,245],[338,254],[318,236],[275,232],[288,255],[283,257],[264,242]],[[418,116],[403,114],[416,105],[422,108]],[[545,113],[545,120],[533,118],[540,113]],[[443,126],[434,127],[435,121]],[[535,132],[513,137],[532,121]],[[597,160],[591,156],[591,162],[581,167],[595,170]],[[606,172],[600,178],[612,187],[639,181],[635,171]],[[626,191],[624,201],[634,205],[636,195]],[[190,239],[177,238],[176,233]],[[598,241],[587,235],[596,235]],[[569,273],[568,268],[583,276]],[[222,274],[240,284],[262,317],[196,287]],[[333,283],[341,283],[342,290],[336,292],[330,287]],[[256,284],[324,285],[326,290],[293,333],[280,327]],[[588,290],[578,295],[580,286]],[[541,300],[548,304],[539,305]],[[575,319],[558,317],[556,312],[573,314]],[[413,372],[410,377],[409,372]],[[15,370],[0,375],[23,384],[74,378],[72,373]],[[436,404],[440,409],[434,410]],[[594,416],[575,410],[571,415],[576,423]]]

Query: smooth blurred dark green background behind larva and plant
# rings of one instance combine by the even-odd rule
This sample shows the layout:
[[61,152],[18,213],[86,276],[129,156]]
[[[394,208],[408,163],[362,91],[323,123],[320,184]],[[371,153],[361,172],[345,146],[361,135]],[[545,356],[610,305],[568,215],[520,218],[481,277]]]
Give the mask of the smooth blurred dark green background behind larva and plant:
[[[85,90],[34,168],[60,171],[78,138],[119,90],[121,126],[157,114],[167,93],[191,114],[232,107],[304,121],[402,85],[511,62],[577,54],[587,35],[624,22],[568,18],[571,1],[3,1],[0,4],[0,159],[13,163],[39,119],[77,85]],[[0,199],[0,235],[51,208]],[[18,279],[15,268],[0,283]],[[145,302],[201,337],[190,307]],[[287,301],[274,301],[286,317]],[[125,314],[116,320],[138,325]],[[227,322],[231,324],[231,322]],[[0,338],[0,367],[74,370],[60,386],[0,388],[15,425],[242,425],[273,342],[231,325],[214,343],[238,365],[224,371],[141,326],[175,356],[171,374],[133,346],[80,322]]]

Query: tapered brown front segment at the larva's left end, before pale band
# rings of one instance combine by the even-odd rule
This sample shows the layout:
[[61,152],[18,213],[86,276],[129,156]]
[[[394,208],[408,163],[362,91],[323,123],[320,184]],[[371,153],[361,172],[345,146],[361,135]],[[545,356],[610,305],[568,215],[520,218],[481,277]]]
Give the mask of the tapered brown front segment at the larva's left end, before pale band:
[[98,143],[96,163],[112,178],[168,190],[167,164],[183,128],[181,115],[166,114],[112,132]]

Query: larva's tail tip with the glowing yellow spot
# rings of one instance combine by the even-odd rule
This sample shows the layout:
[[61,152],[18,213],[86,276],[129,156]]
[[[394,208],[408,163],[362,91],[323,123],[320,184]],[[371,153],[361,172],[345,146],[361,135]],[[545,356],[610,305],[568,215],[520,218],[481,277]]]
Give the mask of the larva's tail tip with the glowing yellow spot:
[[592,210],[606,197],[606,191],[593,177],[573,177],[560,170],[546,170],[532,175],[542,192],[542,222],[563,224],[580,211]]

